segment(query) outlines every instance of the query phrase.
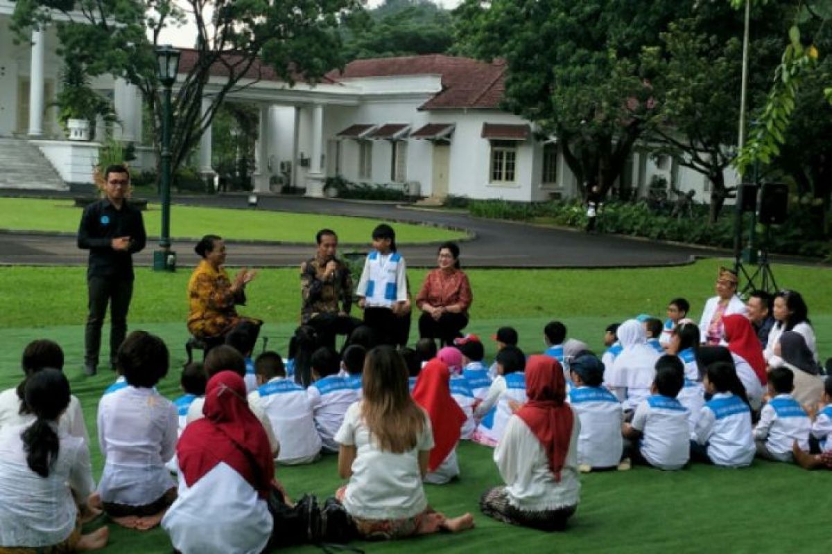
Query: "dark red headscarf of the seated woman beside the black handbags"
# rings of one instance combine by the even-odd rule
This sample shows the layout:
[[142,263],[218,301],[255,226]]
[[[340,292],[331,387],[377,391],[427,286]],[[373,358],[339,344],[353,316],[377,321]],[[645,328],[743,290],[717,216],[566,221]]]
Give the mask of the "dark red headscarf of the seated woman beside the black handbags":
[[189,424],[176,444],[185,483],[192,487],[225,462],[260,493],[260,498],[267,498],[275,462],[265,429],[245,400],[243,378],[233,371],[211,377],[202,413],[205,417]]

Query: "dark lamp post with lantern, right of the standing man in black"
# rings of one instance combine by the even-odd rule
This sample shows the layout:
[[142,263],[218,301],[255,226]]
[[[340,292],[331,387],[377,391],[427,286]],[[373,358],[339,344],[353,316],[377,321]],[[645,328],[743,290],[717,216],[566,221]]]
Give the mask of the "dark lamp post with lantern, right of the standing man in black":
[[180,51],[170,45],[156,48],[156,71],[165,87],[161,110],[161,236],[153,252],[154,271],[176,271],[176,252],[171,252],[171,88],[179,72]]

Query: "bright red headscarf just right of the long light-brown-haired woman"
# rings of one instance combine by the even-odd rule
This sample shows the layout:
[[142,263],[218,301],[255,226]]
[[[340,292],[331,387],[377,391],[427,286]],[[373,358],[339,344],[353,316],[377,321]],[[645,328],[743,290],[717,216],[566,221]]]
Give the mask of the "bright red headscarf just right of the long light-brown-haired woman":
[[414,401],[428,412],[433,427],[433,450],[428,460],[430,471],[435,471],[448,458],[459,442],[463,423],[467,419],[451,396],[450,377],[448,365],[433,358],[419,372],[414,387]]

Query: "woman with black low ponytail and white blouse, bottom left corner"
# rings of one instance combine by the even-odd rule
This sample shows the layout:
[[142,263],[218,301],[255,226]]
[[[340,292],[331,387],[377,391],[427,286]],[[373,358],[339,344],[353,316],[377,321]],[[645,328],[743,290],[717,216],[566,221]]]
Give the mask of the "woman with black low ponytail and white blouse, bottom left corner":
[[73,490],[87,498],[93,483],[87,444],[57,425],[69,405],[67,378],[58,370],[39,371],[27,380],[24,393],[34,422],[0,429],[0,549],[105,547],[106,527],[81,534],[72,498]]

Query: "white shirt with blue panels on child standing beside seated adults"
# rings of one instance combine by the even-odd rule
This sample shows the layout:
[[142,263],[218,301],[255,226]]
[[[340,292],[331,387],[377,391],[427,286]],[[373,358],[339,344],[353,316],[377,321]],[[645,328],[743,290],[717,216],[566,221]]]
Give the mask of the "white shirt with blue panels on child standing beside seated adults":
[[[398,252],[370,252],[364,258],[364,270],[355,289],[355,296],[364,297],[364,306],[393,306],[408,299],[408,282],[404,257]],[[394,294],[390,294],[394,289]]]

